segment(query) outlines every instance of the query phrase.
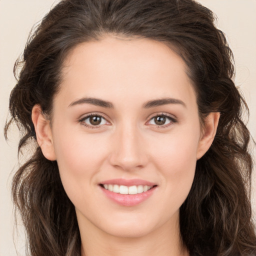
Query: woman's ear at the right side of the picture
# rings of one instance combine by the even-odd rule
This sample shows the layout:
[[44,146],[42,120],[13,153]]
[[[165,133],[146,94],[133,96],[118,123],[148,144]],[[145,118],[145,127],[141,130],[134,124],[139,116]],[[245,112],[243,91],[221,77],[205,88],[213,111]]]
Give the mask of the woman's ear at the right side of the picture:
[[219,112],[210,112],[205,118],[204,125],[202,127],[201,137],[197,147],[197,160],[201,158],[209,149],[216,134],[219,116]]

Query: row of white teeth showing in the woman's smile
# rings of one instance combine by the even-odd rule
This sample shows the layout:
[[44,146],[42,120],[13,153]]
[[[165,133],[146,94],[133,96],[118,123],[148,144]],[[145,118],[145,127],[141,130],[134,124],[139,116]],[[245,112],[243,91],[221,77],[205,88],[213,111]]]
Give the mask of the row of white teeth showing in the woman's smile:
[[124,185],[117,185],[117,184],[103,184],[104,188],[114,192],[114,193],[120,193],[120,194],[138,194],[142,192],[146,192],[152,186],[147,185],[138,185],[138,186],[124,186]]

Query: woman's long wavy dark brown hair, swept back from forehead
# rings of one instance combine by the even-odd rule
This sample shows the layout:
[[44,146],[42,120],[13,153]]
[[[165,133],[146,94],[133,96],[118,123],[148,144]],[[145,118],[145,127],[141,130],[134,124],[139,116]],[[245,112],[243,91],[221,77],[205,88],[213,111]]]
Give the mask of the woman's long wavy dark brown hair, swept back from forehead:
[[220,112],[214,141],[196,164],[191,190],[180,207],[180,233],[190,255],[256,255],[251,218],[250,134],[242,121],[247,106],[235,87],[232,52],[214,26],[213,13],[193,0],[62,0],[31,34],[17,74],[9,110],[21,139],[18,150],[36,149],[15,173],[12,196],[31,256],[80,255],[74,206],[36,142],[31,109],[50,115],[61,65],[77,44],[107,33],[162,41],[175,49],[194,83],[201,119]]

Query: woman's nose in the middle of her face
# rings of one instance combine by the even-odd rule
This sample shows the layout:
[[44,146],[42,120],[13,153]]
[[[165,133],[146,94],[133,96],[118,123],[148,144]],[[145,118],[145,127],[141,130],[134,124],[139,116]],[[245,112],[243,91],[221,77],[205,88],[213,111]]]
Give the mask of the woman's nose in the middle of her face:
[[123,170],[140,169],[148,161],[145,149],[143,137],[136,128],[120,128],[113,135],[110,164]]

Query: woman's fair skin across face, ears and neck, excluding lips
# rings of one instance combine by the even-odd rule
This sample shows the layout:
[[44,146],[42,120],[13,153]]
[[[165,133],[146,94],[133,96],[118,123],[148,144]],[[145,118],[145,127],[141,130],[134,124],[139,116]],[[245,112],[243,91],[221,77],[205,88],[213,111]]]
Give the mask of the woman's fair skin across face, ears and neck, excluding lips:
[[[112,107],[81,100],[87,97]],[[179,101],[144,107],[167,97]],[[93,126],[85,119],[89,113],[104,118]],[[161,114],[170,117],[163,125],[154,119]],[[200,126],[186,66],[161,42],[108,35],[69,53],[51,120],[39,105],[32,120],[38,144],[47,159],[57,160],[75,206],[82,256],[188,255],[179,236],[179,207],[218,118],[210,113]],[[157,187],[142,203],[123,206],[98,185],[112,178],[140,178]]]

